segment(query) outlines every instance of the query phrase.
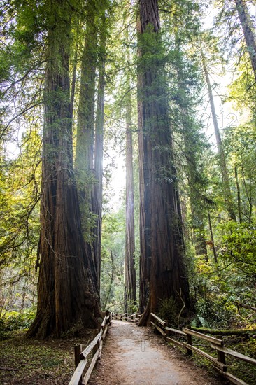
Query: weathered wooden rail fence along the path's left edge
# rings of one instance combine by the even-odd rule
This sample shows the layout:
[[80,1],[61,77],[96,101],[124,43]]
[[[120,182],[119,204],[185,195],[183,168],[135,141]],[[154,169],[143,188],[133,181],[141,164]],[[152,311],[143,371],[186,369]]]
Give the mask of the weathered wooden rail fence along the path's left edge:
[[[86,385],[90,379],[92,374],[92,370],[97,363],[97,360],[101,357],[101,351],[103,346],[103,341],[106,337],[106,333],[108,331],[108,325],[111,324],[112,314],[108,314],[104,317],[104,320],[101,323],[101,330],[97,334],[97,336],[93,339],[93,341],[82,350],[82,344],[76,344],[75,346],[75,363],[76,370],[73,372],[73,376],[69,381],[69,385]],[[92,351],[92,360],[87,368],[87,371],[83,375],[85,371],[85,367],[88,362],[88,356]]]

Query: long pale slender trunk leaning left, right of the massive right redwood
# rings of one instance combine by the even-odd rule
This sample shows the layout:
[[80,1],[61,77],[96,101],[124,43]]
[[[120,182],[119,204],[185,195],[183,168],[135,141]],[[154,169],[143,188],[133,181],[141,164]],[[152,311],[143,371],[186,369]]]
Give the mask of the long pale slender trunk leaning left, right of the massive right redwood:
[[222,183],[223,183],[223,190],[224,190],[223,193],[225,193],[225,201],[227,204],[227,211],[229,213],[229,217],[230,217],[230,219],[232,219],[232,221],[236,221],[236,214],[234,213],[232,193],[231,193],[230,185],[229,185],[229,174],[227,171],[227,162],[226,162],[225,153],[224,153],[223,146],[222,146],[222,139],[220,137],[220,129],[219,129],[219,125],[218,125],[217,114],[215,111],[215,104],[214,104],[214,100],[213,100],[213,91],[211,88],[211,81],[210,81],[210,77],[208,74],[208,69],[206,66],[206,61],[205,61],[205,57],[204,57],[203,52],[201,52],[201,58],[202,58],[202,62],[203,62],[204,74],[206,77],[206,84],[208,87],[208,95],[209,95],[210,104],[211,104],[211,114],[213,117],[213,127],[214,127],[215,138],[216,138],[216,143],[217,143],[217,148],[218,148],[218,155],[219,155],[219,160],[220,160],[220,172],[222,175]]

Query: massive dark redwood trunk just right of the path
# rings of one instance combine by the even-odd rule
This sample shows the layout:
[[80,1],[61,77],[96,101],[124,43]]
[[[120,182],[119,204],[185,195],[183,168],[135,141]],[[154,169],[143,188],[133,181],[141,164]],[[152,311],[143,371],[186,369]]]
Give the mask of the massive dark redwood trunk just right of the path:
[[140,1],[138,106],[142,107],[142,113],[138,112],[142,118],[139,151],[143,165],[143,245],[145,232],[148,233],[148,248],[145,255],[141,255],[141,260],[143,264],[148,258],[151,260],[149,300],[141,325],[148,322],[151,311],[158,311],[161,300],[173,297],[178,302],[180,290],[187,308],[190,306],[157,6],[156,0]]

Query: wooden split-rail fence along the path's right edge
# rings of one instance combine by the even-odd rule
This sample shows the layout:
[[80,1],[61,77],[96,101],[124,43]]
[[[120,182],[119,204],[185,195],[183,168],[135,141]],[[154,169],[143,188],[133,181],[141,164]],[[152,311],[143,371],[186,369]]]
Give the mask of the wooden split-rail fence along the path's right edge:
[[[250,363],[252,365],[256,365],[256,360],[254,358],[244,356],[237,351],[229,349],[224,346],[224,342],[222,341],[222,336],[219,335],[217,337],[211,337],[210,335],[204,335],[200,332],[196,332],[194,330],[190,330],[188,328],[183,328],[183,330],[169,328],[166,325],[165,321],[162,321],[161,318],[157,317],[155,314],[150,314],[150,323],[159,333],[162,334],[164,340],[166,342],[170,342],[180,348],[186,349],[188,355],[192,355],[192,351],[194,353],[199,354],[200,356],[206,358],[206,360],[210,361],[213,365],[213,368],[219,373],[222,374],[223,377],[229,379],[229,381],[233,382],[237,385],[248,385],[246,382],[241,379],[235,377],[233,374],[227,371],[227,364],[225,360],[225,354],[229,356],[233,356],[238,360],[243,360],[246,363]],[[177,339],[173,339],[171,335],[178,335],[179,337],[183,337],[186,339],[185,342],[178,341]],[[218,358],[211,356],[210,354],[202,351],[196,346],[192,345],[192,336],[197,337],[199,339],[203,339],[210,343],[211,349],[214,349],[218,353]]]

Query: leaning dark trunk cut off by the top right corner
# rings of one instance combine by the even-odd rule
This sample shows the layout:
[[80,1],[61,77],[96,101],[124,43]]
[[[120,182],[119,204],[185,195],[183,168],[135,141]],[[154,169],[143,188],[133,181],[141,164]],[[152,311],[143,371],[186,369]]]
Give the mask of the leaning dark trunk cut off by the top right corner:
[[246,39],[246,45],[250,56],[250,62],[253,67],[253,73],[256,81],[256,41],[255,31],[245,0],[235,0],[236,10],[239,14],[239,20],[243,29],[243,36]]

